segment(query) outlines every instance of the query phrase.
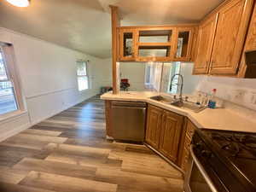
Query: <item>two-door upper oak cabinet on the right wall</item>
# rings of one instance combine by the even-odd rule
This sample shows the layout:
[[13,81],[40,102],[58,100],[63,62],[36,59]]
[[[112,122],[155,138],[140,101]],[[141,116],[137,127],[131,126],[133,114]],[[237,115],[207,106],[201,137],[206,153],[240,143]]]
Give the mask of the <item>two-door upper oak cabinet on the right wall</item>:
[[[247,28],[250,19],[253,20],[253,7],[253,0],[225,1],[201,21],[194,74],[241,78],[247,78],[245,73],[252,74],[253,70],[247,70],[241,56],[245,40],[250,35]],[[256,77],[251,74],[250,78]]]

